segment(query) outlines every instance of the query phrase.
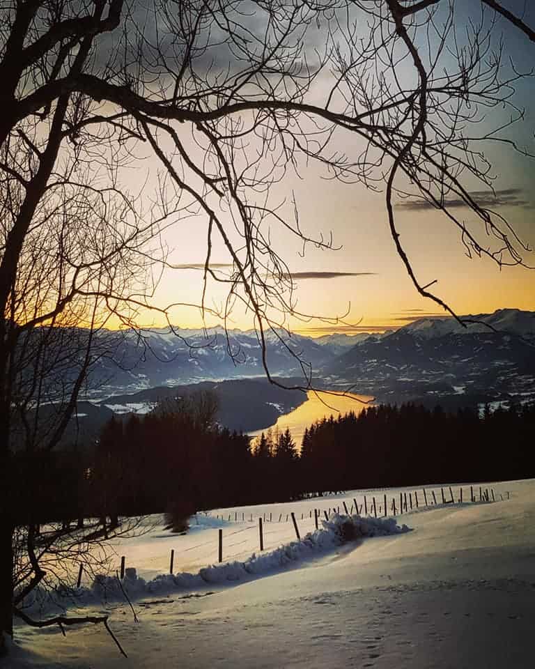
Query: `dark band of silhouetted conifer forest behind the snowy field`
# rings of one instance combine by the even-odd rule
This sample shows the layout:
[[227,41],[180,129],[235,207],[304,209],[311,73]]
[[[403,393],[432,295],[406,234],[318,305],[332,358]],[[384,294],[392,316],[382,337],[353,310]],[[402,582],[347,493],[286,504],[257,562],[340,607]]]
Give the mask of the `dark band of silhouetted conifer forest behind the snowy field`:
[[300,449],[290,431],[251,442],[213,424],[213,407],[168,402],[112,418],[88,452],[18,458],[20,520],[166,512],[176,529],[199,509],[382,486],[535,477],[535,406],[447,413],[408,403],[316,422]]

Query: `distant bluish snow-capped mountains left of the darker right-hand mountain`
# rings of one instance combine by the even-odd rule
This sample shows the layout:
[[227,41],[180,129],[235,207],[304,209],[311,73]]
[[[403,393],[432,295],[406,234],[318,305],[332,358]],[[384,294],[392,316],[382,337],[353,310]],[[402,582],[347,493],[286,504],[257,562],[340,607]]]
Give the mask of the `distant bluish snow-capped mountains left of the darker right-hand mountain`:
[[[159,385],[263,376],[262,348],[254,330],[150,329],[117,332],[110,353],[91,374],[87,397],[134,392]],[[107,333],[110,337],[110,333]],[[266,360],[272,374],[302,375],[300,360],[313,369],[332,362],[336,352],[310,337],[269,331]]]

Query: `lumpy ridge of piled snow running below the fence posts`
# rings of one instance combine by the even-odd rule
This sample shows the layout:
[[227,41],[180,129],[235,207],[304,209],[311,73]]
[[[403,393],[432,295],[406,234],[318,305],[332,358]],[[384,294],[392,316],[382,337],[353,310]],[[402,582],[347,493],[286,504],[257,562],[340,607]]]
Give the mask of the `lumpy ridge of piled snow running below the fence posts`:
[[291,541],[273,551],[253,553],[243,562],[234,561],[212,564],[199,569],[197,574],[160,574],[146,581],[137,576],[137,570],[129,567],[125,578],[98,574],[91,587],[56,587],[46,590],[38,587],[24,600],[24,608],[34,613],[50,610],[64,610],[67,606],[102,605],[111,601],[141,599],[151,594],[169,594],[183,590],[195,590],[207,584],[233,583],[239,580],[259,577],[262,574],[281,571],[290,564],[298,564],[313,559],[321,553],[332,551],[336,546],[366,537],[384,537],[409,532],[407,525],[396,523],[396,518],[371,518],[362,516],[341,516],[332,514],[328,521],[321,521],[323,529],[309,532],[300,541]]

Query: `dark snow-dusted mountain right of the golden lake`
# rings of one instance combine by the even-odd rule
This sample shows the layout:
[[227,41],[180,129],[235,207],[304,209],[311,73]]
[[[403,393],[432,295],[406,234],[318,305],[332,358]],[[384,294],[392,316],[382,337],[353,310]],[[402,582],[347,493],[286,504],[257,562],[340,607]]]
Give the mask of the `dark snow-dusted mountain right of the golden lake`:
[[414,321],[353,346],[323,374],[382,400],[535,399],[535,313],[499,309],[466,320],[478,322],[463,327],[453,318]]

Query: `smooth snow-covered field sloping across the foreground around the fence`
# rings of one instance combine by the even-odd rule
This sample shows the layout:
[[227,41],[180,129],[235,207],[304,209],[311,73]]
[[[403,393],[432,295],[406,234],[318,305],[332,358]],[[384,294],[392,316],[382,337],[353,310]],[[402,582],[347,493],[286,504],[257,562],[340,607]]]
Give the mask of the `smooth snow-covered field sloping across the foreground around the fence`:
[[[459,488],[452,487],[458,500]],[[390,505],[400,491],[215,509],[199,514],[185,537],[157,525],[115,546],[117,559],[125,555],[127,567],[136,567],[146,581],[130,588],[139,622],[120,594],[107,592],[104,607],[94,589],[82,590],[93,595],[82,597],[85,610],[111,613],[111,628],[128,659],[118,654],[102,626],[71,628],[65,637],[56,628],[20,626],[7,666],[531,667],[535,481],[484,487],[494,489],[497,502],[467,502],[470,487],[463,486],[463,505],[441,505],[435,489],[439,504],[426,508],[419,490],[419,509],[397,516],[412,532],[343,545],[333,538],[332,524],[298,543],[286,515],[295,514],[304,537],[314,530],[314,507],[340,507],[343,513],[343,502],[348,508],[354,499],[361,505],[364,494],[368,503],[375,496],[379,507],[385,493]],[[479,497],[479,486],[476,492]],[[263,553],[258,516],[265,517]],[[392,531],[387,522],[365,523],[364,535]],[[223,566],[203,571],[217,563],[219,529]],[[154,580],[169,573],[171,548],[175,574],[192,576]],[[226,567],[226,561],[234,564]]]

